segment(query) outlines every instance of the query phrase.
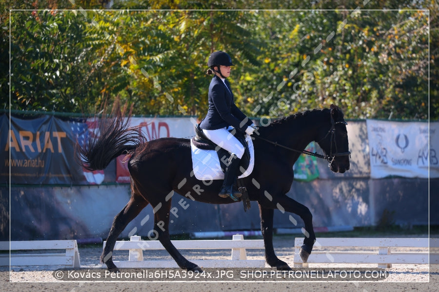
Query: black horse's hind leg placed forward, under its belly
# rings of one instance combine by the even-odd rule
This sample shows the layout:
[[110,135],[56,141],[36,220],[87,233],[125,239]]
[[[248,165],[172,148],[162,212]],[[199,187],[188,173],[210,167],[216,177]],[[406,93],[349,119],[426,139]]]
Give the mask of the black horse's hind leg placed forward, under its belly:
[[171,238],[169,237],[169,211],[171,210],[171,200],[161,202],[159,204],[161,204],[160,208],[154,206],[154,231],[160,243],[163,245],[169,255],[174,258],[181,269],[201,272],[200,267],[182,256],[171,242]]

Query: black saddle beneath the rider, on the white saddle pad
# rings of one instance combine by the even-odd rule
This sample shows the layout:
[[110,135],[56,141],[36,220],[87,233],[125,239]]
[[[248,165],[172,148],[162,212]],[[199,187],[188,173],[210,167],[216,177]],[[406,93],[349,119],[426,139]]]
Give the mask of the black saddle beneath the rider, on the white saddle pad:
[[[235,138],[244,146],[244,155],[240,160],[238,176],[240,176],[243,172],[240,172],[241,169],[247,169],[250,164],[250,150],[248,148],[247,142],[245,141],[244,133],[237,131],[236,129],[229,130]],[[215,150],[218,154],[218,158],[220,159],[221,170],[225,172],[228,162],[230,161],[230,156],[232,153],[221,148],[214,142],[212,142],[206,135],[204,135],[203,131],[200,128],[200,124],[195,125],[195,137],[192,138],[192,143],[197,148],[203,150]]]

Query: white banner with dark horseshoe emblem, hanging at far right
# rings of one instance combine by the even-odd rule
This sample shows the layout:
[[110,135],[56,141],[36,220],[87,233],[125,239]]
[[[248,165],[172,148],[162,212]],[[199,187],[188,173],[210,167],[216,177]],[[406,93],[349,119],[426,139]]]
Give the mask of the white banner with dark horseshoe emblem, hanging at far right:
[[371,178],[439,177],[438,122],[366,120],[366,126]]

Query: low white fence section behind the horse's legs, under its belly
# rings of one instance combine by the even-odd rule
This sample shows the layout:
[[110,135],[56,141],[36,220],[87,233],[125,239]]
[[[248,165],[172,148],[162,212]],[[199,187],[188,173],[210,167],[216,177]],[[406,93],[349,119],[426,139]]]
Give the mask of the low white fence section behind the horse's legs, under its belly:
[[[177,249],[220,250],[230,249],[230,259],[189,259],[203,268],[263,268],[265,259],[247,259],[246,249],[264,249],[262,239],[244,240],[240,234],[232,240],[171,240]],[[103,246],[105,247],[106,241]],[[143,260],[143,250],[164,250],[158,240],[141,240],[140,236],[130,237],[130,241],[116,241],[114,250],[129,250],[127,261],[114,261],[118,268],[178,268],[171,260]],[[105,266],[104,264],[102,266]]]

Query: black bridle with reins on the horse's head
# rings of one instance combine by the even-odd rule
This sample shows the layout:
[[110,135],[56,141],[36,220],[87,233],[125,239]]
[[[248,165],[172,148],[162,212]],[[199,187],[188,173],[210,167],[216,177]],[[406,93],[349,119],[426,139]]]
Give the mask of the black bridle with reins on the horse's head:
[[[278,144],[278,142],[273,142],[273,141],[270,141],[270,140],[268,140],[268,139],[262,138],[262,137],[260,137],[260,136],[258,136],[258,135],[254,135],[254,136],[252,136],[252,137],[256,137],[256,138],[258,138],[258,139],[260,139],[260,140],[263,140],[263,141],[265,141],[265,142],[268,142],[268,143],[270,143],[270,144],[273,144],[274,146],[279,146],[279,147],[281,147],[281,148],[284,148],[284,149],[287,149],[287,150],[290,150],[290,151],[295,151],[295,152],[303,153],[303,154],[306,154],[306,155],[315,156],[315,157],[317,157],[317,158],[325,159],[325,160],[327,160],[327,161],[329,162],[328,166],[331,166],[332,162],[334,161],[334,158],[336,158],[337,156],[349,156],[349,158],[351,158],[351,152],[350,152],[350,151],[348,151],[348,152],[338,152],[338,149],[337,149],[337,143],[336,143],[336,141],[335,141],[335,126],[338,125],[338,124],[344,124],[344,125],[347,125],[347,123],[346,123],[344,120],[343,120],[343,121],[335,122],[335,121],[334,121],[334,118],[333,118],[332,115],[331,115],[331,128],[328,130],[328,132],[326,133],[326,135],[325,135],[323,138],[321,138],[321,139],[319,140],[319,142],[317,142],[317,143],[320,143],[323,139],[326,139],[326,138],[328,137],[328,135],[330,135],[330,141],[329,141],[329,143],[330,143],[329,155],[322,155],[322,154],[319,154],[319,153],[317,153],[317,152],[310,152],[310,151],[307,151],[307,150],[297,150],[297,149],[293,149],[293,148],[290,148],[290,147],[287,147],[287,146],[284,146],[284,145]],[[335,146],[335,153],[332,152],[332,149],[333,149],[332,146],[333,146],[333,145]]]

